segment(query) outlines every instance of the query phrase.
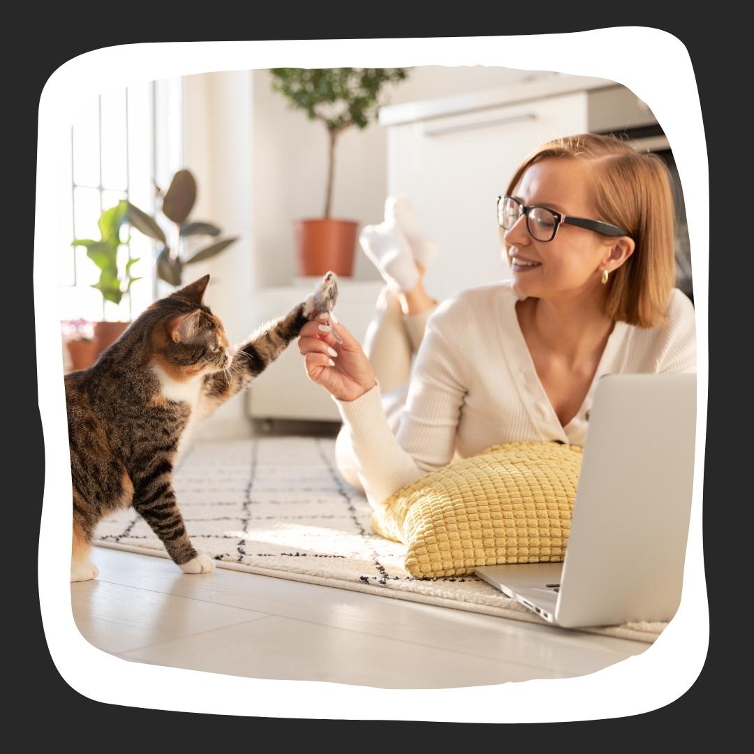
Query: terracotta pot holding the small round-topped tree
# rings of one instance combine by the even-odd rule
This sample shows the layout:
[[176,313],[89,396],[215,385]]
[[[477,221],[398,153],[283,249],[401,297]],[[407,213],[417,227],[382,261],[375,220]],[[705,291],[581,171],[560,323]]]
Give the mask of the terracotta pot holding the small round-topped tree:
[[296,220],[296,259],[299,275],[311,277],[332,270],[341,277],[354,271],[354,220]]

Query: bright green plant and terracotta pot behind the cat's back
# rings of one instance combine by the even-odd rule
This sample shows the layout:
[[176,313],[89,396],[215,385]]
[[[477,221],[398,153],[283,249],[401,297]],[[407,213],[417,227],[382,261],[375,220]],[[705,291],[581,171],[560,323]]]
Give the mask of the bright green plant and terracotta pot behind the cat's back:
[[[102,293],[105,301],[119,304],[125,293],[128,293],[131,285],[140,280],[130,274],[133,265],[138,259],[129,259],[121,272],[118,268],[118,247],[127,243],[127,239],[121,238],[121,226],[127,222],[128,202],[119,201],[115,207],[104,210],[97,221],[100,228],[100,240],[93,238],[76,238],[72,246],[82,246],[87,250],[89,259],[100,268],[100,280],[93,284],[93,288]],[[127,322],[111,322],[101,320],[94,323],[94,340],[97,343],[95,359],[112,342],[118,340],[127,328]],[[94,359],[93,359],[94,360]],[[88,366],[88,364],[87,364]]]

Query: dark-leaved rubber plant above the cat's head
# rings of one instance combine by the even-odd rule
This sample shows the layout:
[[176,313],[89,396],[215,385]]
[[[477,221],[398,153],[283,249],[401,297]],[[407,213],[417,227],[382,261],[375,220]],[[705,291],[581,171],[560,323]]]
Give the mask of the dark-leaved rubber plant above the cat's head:
[[158,197],[162,199],[161,214],[170,223],[170,242],[157,219],[139,210],[139,207],[130,202],[127,209],[128,222],[136,230],[161,244],[157,257],[158,277],[177,288],[182,284],[182,272],[185,265],[210,259],[234,241],[238,241],[238,237],[212,241],[192,254],[189,259],[183,259],[179,256],[182,239],[197,235],[217,238],[221,232],[220,228],[211,222],[189,222],[189,214],[196,203],[196,180],[189,170],[179,170],[173,176],[167,192],[163,193],[159,186],[156,188]]

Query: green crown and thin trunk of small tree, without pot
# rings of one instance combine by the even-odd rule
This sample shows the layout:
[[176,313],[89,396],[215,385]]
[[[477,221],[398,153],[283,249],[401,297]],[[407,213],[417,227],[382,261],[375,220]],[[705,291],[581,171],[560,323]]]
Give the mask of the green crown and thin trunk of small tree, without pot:
[[377,114],[380,90],[403,81],[404,68],[273,68],[272,88],[309,120],[322,121],[329,136],[327,189],[323,216],[329,218],[333,200],[333,168],[338,137],[346,129],[365,128]]

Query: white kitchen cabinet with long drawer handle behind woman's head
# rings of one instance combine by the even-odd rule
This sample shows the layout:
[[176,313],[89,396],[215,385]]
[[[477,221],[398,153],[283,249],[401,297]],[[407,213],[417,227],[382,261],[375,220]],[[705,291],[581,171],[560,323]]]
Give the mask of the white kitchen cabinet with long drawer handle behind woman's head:
[[[395,106],[394,111],[406,106]],[[501,104],[441,115],[410,112],[388,125],[388,192],[409,196],[421,227],[437,241],[440,256],[425,285],[440,299],[460,288],[507,276],[495,215],[516,167],[536,146],[557,136],[587,131],[587,92]],[[383,110],[390,110],[385,108]]]

